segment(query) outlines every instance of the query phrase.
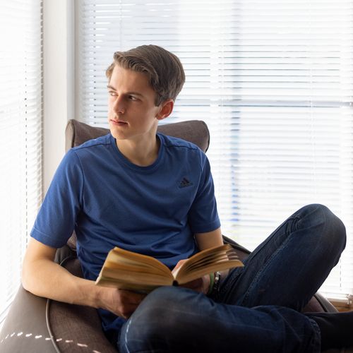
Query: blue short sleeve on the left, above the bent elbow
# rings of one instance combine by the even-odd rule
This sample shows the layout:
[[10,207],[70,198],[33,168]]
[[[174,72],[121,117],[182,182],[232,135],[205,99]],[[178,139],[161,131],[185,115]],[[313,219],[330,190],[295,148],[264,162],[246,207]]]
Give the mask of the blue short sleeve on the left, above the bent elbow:
[[54,248],[66,244],[82,209],[83,184],[78,156],[69,150],[56,169],[30,233],[31,237]]

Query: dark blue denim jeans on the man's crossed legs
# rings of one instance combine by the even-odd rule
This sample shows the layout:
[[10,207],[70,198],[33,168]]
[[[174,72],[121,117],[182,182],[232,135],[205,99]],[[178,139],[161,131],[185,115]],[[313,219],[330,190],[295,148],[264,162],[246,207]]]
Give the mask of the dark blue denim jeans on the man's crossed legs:
[[121,329],[119,352],[320,352],[318,325],[299,311],[337,264],[345,239],[328,208],[305,206],[229,273],[217,298],[155,289]]

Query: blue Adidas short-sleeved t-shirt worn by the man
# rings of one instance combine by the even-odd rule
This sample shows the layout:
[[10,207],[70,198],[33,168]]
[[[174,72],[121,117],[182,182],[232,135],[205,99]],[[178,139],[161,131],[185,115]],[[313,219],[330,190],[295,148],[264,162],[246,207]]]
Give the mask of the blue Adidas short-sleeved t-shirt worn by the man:
[[[153,256],[169,268],[196,253],[193,234],[220,227],[210,164],[196,145],[157,137],[158,157],[148,167],[129,162],[110,133],[71,148],[31,236],[59,248],[75,230],[89,280],[96,280],[114,246]],[[104,327],[114,318],[102,315]]]

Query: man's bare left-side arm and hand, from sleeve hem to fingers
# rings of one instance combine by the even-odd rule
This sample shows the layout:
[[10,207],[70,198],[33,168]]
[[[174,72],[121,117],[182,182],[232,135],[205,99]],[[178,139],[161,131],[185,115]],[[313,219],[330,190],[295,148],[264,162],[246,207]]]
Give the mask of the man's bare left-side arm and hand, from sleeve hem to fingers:
[[56,249],[30,239],[23,261],[22,282],[29,292],[70,304],[79,304],[112,311],[128,317],[135,311],[142,294],[98,287],[94,281],[71,275],[54,263]]

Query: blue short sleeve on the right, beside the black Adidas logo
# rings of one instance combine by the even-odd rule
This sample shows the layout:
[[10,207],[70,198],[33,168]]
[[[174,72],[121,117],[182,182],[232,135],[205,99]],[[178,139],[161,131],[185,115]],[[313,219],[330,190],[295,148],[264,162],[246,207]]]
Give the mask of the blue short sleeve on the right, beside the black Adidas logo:
[[220,227],[210,162],[203,152],[201,152],[201,178],[189,212],[189,225],[194,234],[211,232]]

